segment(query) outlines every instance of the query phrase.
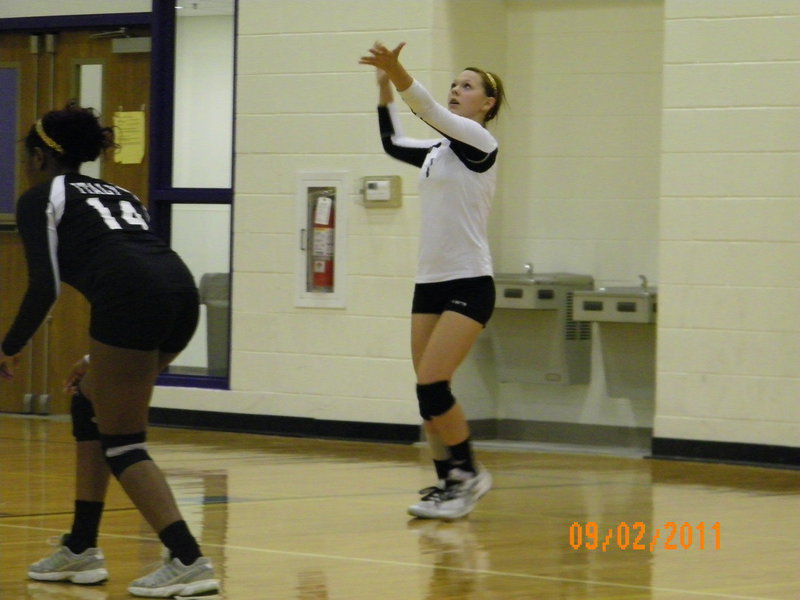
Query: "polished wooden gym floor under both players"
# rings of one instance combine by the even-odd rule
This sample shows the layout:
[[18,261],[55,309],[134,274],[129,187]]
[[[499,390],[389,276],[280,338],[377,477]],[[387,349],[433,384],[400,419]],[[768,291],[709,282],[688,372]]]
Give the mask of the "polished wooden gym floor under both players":
[[[479,448],[495,487],[444,523],[405,515],[432,483],[420,447],[150,439],[227,600],[800,598],[797,470]],[[0,415],[0,460],[0,600],[129,598],[160,548],[116,483],[100,538],[109,582],[26,579],[70,524],[69,424]]]

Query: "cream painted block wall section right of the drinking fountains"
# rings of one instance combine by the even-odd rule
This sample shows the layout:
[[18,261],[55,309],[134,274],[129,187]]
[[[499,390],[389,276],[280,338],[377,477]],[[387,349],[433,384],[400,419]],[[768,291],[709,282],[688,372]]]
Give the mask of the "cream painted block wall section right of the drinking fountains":
[[800,3],[666,2],[658,437],[800,439]]

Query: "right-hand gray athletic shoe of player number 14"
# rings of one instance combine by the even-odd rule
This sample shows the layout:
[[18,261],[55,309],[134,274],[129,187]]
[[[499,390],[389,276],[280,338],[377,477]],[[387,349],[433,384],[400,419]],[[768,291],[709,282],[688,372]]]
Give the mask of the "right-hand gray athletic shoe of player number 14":
[[214,579],[211,561],[201,556],[191,565],[180,559],[165,560],[158,569],[133,581],[128,591],[144,598],[209,596],[219,592],[219,580]]

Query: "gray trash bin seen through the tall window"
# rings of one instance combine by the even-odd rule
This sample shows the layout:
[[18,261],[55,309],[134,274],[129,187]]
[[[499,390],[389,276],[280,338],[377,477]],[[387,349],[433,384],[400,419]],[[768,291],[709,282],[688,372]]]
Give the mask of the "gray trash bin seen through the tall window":
[[230,356],[231,274],[205,273],[200,278],[200,304],[206,305],[208,374],[226,376]]

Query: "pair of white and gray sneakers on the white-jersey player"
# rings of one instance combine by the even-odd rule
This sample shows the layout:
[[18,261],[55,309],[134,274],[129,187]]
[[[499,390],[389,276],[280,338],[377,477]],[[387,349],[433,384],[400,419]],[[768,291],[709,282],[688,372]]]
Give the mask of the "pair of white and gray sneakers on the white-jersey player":
[[477,473],[452,469],[444,489],[426,488],[422,500],[408,507],[409,514],[420,519],[459,519],[472,512],[475,505],[492,489],[492,476],[485,469]]

